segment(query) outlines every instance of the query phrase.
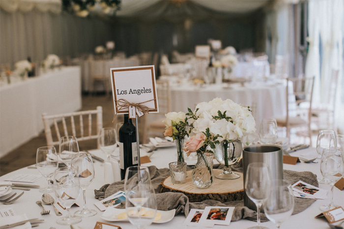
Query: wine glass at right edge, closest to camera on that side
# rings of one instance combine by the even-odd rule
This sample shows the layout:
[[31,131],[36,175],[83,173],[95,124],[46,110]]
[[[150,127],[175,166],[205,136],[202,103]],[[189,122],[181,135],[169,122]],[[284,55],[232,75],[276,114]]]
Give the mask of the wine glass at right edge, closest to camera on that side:
[[322,211],[328,211],[338,207],[333,203],[333,186],[344,174],[343,159],[342,149],[336,147],[324,148],[321,157],[320,171],[322,176],[331,184],[331,200],[328,205],[320,207]]

